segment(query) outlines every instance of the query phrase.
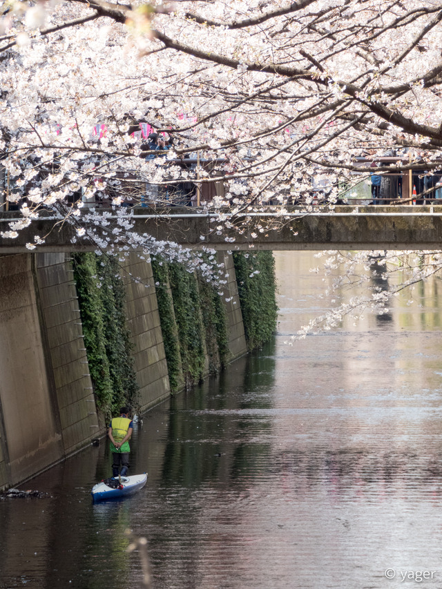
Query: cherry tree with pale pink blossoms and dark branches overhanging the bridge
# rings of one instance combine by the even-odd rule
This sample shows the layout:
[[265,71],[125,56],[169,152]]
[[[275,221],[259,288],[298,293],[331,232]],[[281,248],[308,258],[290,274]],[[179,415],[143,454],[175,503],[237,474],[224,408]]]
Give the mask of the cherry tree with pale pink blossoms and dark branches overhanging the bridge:
[[[370,172],[441,167],[436,0],[10,0],[2,10],[3,206],[23,217],[3,231],[11,239],[49,210],[81,220],[81,240],[106,222],[99,209],[84,212],[88,202],[121,211],[145,200],[146,186],[164,195],[189,180],[223,182],[204,210],[235,224],[269,204],[279,221],[293,202],[308,213],[315,181],[333,208]],[[168,151],[149,148],[152,129],[171,139]],[[406,156],[376,164],[391,149]],[[189,155],[215,165],[195,175]],[[100,247],[118,236],[183,255],[133,235],[124,210],[119,218]],[[365,256],[369,273],[374,259]],[[439,268],[439,253],[432,260]],[[376,307],[381,292],[369,296]]]

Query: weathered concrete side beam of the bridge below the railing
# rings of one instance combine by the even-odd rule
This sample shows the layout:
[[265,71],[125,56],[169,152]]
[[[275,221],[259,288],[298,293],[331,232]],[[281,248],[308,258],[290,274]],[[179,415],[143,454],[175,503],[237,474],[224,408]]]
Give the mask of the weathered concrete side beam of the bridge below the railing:
[[[278,207],[269,207],[260,213],[228,217],[234,226],[222,231],[217,230],[219,222],[215,216],[190,207],[183,209],[174,207],[150,213],[148,209],[133,209],[134,229],[157,240],[176,242],[184,247],[198,249],[210,246],[220,251],[434,249],[439,248],[442,241],[442,205],[348,205],[336,206],[334,211],[316,206],[307,213],[291,207],[285,209],[287,213],[284,215]],[[7,229],[7,221],[17,216],[17,212],[0,213],[0,227]],[[112,229],[112,218],[110,221]],[[35,235],[48,233],[53,223],[48,215],[46,219],[31,222],[16,239],[0,238],[0,253],[27,253],[26,243],[32,242]],[[242,226],[244,232],[238,233],[235,226]],[[265,231],[261,232],[262,227]],[[87,240],[77,240],[73,244],[71,239],[75,233],[71,226],[64,223],[59,230],[49,233],[46,242],[37,246],[35,251],[95,249],[95,244]],[[253,237],[255,233],[256,238]]]

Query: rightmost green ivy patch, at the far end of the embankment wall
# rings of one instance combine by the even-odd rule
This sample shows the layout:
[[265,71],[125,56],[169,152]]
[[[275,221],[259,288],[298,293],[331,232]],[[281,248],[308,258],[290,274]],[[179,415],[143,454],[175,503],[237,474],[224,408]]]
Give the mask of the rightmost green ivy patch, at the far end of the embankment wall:
[[271,251],[233,253],[238,293],[249,350],[271,339],[276,329],[275,262]]

